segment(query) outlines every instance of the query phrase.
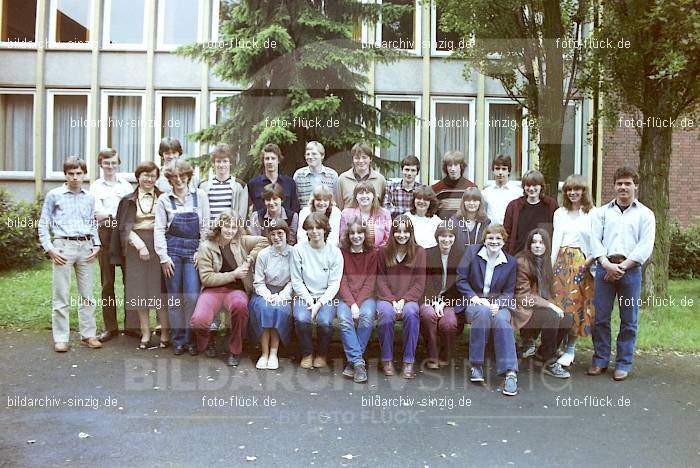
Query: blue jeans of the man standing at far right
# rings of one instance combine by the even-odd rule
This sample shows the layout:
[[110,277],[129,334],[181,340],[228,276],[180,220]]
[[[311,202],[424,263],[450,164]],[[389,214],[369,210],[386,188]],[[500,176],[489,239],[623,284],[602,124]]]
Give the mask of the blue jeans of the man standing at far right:
[[634,345],[637,342],[637,314],[642,289],[642,267],[627,270],[618,281],[605,281],[605,268],[598,265],[595,273],[595,325],[593,327],[593,365],[608,367],[610,362],[610,317],[615,296],[620,309],[620,331],[617,334],[616,369],[632,368]]

